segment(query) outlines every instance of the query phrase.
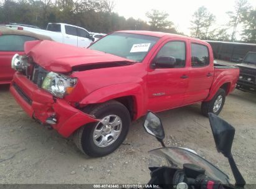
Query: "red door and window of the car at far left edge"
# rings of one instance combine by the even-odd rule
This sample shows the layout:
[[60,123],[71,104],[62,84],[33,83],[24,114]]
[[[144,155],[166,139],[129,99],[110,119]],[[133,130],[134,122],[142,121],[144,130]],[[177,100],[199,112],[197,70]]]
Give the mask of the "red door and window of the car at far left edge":
[[10,83],[14,70],[11,68],[13,55],[24,54],[24,43],[37,40],[25,35],[0,35],[0,84]]

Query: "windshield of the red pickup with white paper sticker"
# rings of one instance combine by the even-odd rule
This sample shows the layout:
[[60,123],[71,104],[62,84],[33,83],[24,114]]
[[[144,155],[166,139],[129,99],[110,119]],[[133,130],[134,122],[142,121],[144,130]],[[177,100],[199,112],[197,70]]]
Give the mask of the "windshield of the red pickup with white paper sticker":
[[158,39],[149,35],[116,32],[103,37],[89,48],[141,62]]

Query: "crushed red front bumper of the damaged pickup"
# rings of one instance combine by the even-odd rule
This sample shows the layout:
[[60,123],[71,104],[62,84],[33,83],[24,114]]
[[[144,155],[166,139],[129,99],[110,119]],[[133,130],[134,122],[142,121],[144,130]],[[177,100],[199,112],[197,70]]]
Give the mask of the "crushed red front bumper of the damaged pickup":
[[31,118],[46,124],[47,118],[57,119],[51,126],[62,136],[69,137],[79,127],[98,120],[73,108],[65,99],[54,99],[52,94],[37,87],[19,72],[14,74],[10,91],[17,103]]

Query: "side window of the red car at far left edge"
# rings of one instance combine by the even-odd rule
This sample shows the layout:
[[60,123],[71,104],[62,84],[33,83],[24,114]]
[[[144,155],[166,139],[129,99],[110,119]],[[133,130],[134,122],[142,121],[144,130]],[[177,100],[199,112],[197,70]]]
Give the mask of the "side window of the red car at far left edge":
[[0,51],[24,51],[24,43],[37,40],[26,35],[0,35]]

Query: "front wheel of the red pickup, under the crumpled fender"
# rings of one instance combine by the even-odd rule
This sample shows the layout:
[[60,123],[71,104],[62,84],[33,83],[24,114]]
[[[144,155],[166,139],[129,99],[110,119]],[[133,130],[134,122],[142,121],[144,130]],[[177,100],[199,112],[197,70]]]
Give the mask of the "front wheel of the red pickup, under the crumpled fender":
[[74,134],[74,142],[84,154],[101,157],[110,154],[125,140],[131,119],[126,107],[118,101],[95,106],[90,114],[100,122],[87,124]]

